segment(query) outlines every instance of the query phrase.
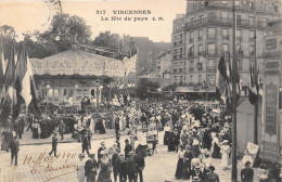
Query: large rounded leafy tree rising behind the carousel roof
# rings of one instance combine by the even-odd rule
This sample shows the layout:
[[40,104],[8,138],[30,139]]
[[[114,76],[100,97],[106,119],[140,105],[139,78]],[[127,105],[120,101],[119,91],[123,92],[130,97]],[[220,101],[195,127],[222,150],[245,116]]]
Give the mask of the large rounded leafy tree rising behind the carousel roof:
[[54,16],[50,28],[39,35],[38,41],[54,44],[57,52],[63,52],[72,48],[74,35],[76,35],[78,43],[85,43],[89,41],[91,34],[90,26],[86,24],[82,17],[57,14]]

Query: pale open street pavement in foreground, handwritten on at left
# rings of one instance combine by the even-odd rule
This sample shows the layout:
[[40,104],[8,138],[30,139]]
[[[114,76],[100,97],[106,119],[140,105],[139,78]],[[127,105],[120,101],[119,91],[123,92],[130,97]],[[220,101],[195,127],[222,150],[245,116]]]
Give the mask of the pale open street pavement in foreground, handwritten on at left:
[[[159,134],[159,139],[163,138]],[[124,150],[124,141],[127,135],[121,136],[120,143]],[[110,147],[114,143],[114,139],[104,139],[92,141],[90,153],[97,153],[100,142],[104,141]],[[175,171],[177,166],[177,154],[168,153],[167,146],[164,146],[159,140],[157,145],[157,154],[145,158],[145,169],[143,171],[144,182],[164,182],[175,180]],[[18,153],[18,166],[12,166],[10,153],[2,152],[0,154],[0,181],[1,182],[76,182],[75,166],[78,162],[78,154],[81,152],[81,143],[60,143],[57,146],[57,157],[49,157],[51,144],[43,145],[22,145]],[[88,158],[85,158],[87,160]],[[216,172],[220,177],[221,182],[231,181],[231,169],[222,170],[220,168],[220,159],[214,159],[213,165]],[[239,161],[239,171],[242,165]],[[240,174],[240,173],[239,173]],[[112,178],[113,179],[113,178]],[[258,180],[255,180],[258,181]]]

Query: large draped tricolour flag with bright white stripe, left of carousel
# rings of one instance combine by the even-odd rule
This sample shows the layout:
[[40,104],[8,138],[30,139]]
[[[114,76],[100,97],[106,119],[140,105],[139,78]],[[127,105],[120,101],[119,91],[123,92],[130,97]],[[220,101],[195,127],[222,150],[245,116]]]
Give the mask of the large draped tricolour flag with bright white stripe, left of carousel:
[[[37,117],[41,112],[36,103],[36,88],[33,80],[31,66],[27,56],[25,43],[18,54],[15,72],[12,78],[12,88],[16,90],[17,100],[13,107],[14,118],[21,113],[21,104],[28,106],[29,112]],[[33,101],[33,102],[31,102]]]

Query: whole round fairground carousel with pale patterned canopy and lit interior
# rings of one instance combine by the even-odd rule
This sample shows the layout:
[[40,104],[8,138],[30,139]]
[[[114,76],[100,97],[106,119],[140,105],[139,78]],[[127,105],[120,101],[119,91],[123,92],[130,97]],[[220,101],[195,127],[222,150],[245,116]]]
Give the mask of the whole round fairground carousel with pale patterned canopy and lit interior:
[[110,92],[121,84],[118,80],[136,72],[136,55],[116,60],[74,44],[42,60],[30,58],[30,63],[43,113],[47,105],[72,109],[67,113],[78,113],[84,103],[99,105],[103,98],[113,96]]

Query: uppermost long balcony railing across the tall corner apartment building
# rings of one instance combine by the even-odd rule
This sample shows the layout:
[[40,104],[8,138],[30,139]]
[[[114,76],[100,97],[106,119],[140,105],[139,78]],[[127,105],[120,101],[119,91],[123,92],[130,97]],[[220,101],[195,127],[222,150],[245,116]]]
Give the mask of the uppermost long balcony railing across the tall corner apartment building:
[[[226,25],[226,26],[232,26],[232,18],[228,17],[218,17],[218,16],[210,16],[210,17],[204,17],[202,20],[196,20],[193,22],[189,22],[185,24],[185,29],[191,30],[193,28],[198,28],[201,26],[207,26],[207,25]],[[249,20],[238,20],[236,22],[238,26],[244,26],[244,27],[254,27],[254,22]],[[267,23],[265,22],[256,22],[257,28],[271,28],[268,27]]]

